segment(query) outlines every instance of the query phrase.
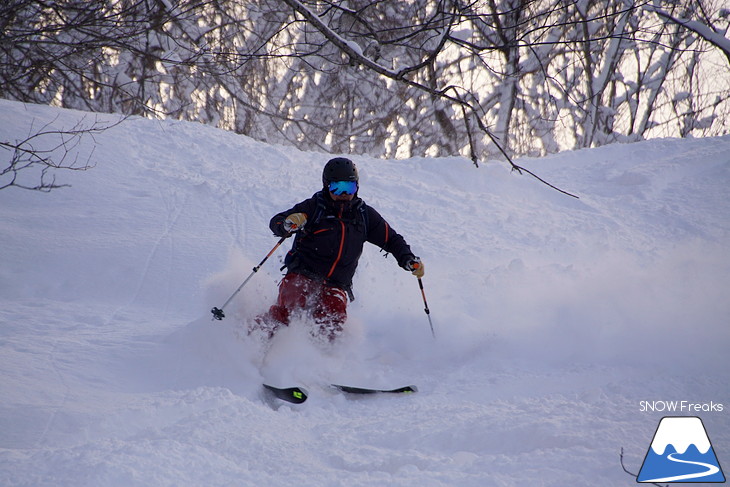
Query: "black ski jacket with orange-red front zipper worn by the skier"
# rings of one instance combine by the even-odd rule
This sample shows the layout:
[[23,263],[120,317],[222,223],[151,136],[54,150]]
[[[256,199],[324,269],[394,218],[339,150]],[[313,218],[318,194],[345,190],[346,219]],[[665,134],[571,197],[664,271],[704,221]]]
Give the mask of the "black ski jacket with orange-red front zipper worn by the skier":
[[289,272],[303,274],[350,290],[363,244],[370,242],[390,252],[405,267],[414,258],[405,239],[372,207],[355,196],[350,202],[335,202],[319,191],[311,198],[275,215],[269,227],[284,236],[284,220],[292,213],[307,215],[302,231],[286,257]]

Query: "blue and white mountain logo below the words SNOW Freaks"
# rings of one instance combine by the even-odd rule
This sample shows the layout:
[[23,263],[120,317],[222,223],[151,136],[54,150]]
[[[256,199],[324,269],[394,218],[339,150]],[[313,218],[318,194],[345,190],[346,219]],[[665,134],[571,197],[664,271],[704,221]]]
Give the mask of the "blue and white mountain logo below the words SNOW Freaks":
[[637,482],[725,482],[705,425],[696,416],[659,421]]

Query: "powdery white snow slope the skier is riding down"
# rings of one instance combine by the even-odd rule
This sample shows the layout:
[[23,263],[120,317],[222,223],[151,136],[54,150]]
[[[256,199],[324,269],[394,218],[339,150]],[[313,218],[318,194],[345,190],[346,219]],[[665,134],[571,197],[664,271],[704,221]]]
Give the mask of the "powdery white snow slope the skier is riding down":
[[[0,112],[3,141],[88,116]],[[0,191],[0,485],[628,485],[621,448],[638,471],[668,414],[640,402],[674,400],[724,405],[679,415],[730,464],[730,137],[519,161],[580,200],[498,163],[354,157],[426,265],[436,338],[416,280],[369,247],[346,336],[297,321],[269,349],[243,329],[284,249],[225,320],[210,308],[330,156],[140,118],[74,150],[92,149],[56,174],[70,188]]]

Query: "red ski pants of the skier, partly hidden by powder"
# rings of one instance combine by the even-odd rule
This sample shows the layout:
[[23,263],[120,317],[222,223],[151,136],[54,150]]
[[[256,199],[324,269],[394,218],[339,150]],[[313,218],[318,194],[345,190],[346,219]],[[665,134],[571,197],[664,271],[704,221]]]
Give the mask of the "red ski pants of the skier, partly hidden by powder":
[[268,317],[289,324],[292,313],[305,311],[319,325],[320,334],[334,340],[347,319],[347,293],[338,287],[289,273],[279,284],[279,297],[269,308]]

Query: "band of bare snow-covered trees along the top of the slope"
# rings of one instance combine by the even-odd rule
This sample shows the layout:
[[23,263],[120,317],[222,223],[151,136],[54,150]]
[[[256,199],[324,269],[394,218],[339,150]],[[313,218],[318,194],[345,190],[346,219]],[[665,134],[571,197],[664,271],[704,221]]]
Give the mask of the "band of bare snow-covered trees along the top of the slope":
[[475,164],[718,135],[713,2],[9,0],[0,96]]

